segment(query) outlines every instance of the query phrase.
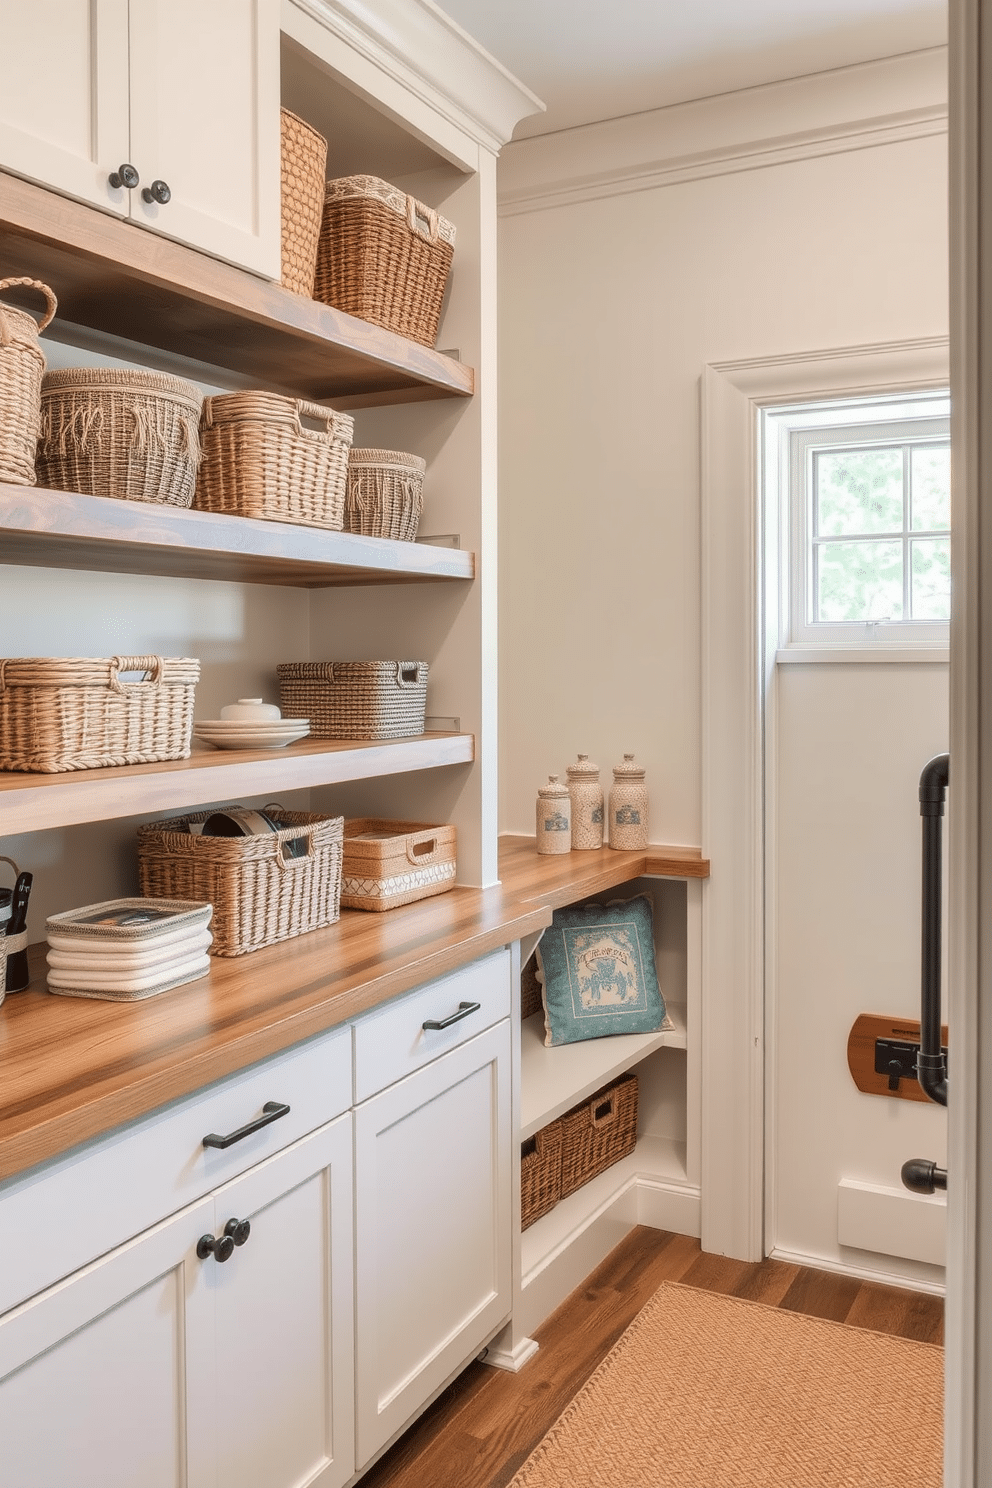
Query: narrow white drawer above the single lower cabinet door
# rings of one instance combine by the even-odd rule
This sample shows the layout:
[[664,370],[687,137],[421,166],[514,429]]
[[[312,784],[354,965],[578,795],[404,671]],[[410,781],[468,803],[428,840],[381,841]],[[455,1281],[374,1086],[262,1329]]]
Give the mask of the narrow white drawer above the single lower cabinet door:
[[[477,1010],[460,1003],[479,1003]],[[464,1012],[446,1028],[425,1028]],[[408,992],[354,1025],[355,1101],[364,1101],[439,1054],[510,1015],[510,952],[495,951],[416,992]]]

